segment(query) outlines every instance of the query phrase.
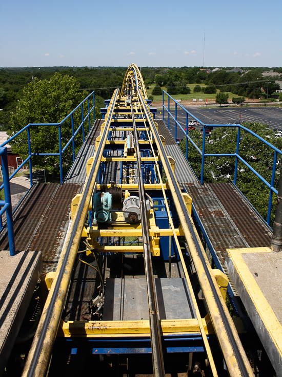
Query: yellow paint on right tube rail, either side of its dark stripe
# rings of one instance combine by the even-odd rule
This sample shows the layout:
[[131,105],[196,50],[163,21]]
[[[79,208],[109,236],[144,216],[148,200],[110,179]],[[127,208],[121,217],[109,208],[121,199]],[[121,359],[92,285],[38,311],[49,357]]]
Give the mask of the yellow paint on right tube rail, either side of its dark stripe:
[[[152,119],[152,117],[149,113],[148,106],[145,104],[145,100],[144,100],[144,97],[142,95],[142,92],[138,91],[138,97],[139,97],[140,102],[142,103],[144,110],[145,110],[145,115],[147,117],[147,121],[149,122],[149,124],[152,125],[153,119]],[[223,318],[221,317],[219,308],[218,308],[218,306],[215,302],[215,297],[214,297],[213,291],[211,289],[208,277],[206,276],[205,268],[203,266],[202,260],[200,259],[200,256],[198,255],[197,249],[195,247],[195,243],[194,243],[194,240],[193,240],[192,235],[190,233],[189,226],[186,222],[185,215],[184,215],[183,210],[182,210],[182,206],[180,205],[176,191],[174,189],[173,181],[170,177],[170,172],[169,172],[169,169],[167,167],[166,160],[165,160],[164,156],[162,155],[162,152],[161,152],[162,149],[160,148],[160,145],[158,143],[158,139],[157,139],[155,131],[154,131],[154,127],[152,127],[152,126],[151,126],[151,131],[152,131],[152,134],[153,134],[153,137],[154,137],[154,142],[156,143],[158,151],[159,151],[160,159],[161,159],[161,161],[163,163],[163,167],[165,169],[165,174],[167,176],[167,180],[168,180],[169,187],[170,187],[170,190],[171,190],[171,194],[172,194],[172,197],[173,197],[174,205],[175,205],[175,208],[177,210],[180,223],[182,224],[182,228],[183,228],[184,235],[185,235],[185,238],[186,238],[186,241],[187,241],[187,244],[188,244],[190,255],[192,257],[192,260],[193,260],[193,263],[194,263],[194,266],[195,266],[195,269],[196,269],[196,272],[197,272],[197,275],[198,275],[198,278],[199,278],[200,286],[201,286],[203,294],[205,296],[205,300],[206,300],[206,303],[207,303],[207,306],[208,306],[208,310],[209,310],[209,313],[210,313],[210,316],[211,316],[211,320],[212,320],[213,326],[215,328],[215,332],[216,332],[216,335],[218,337],[218,341],[219,341],[221,350],[223,351],[229,373],[230,373],[231,376],[234,376],[234,377],[241,376],[240,368],[239,368],[239,365],[237,364],[236,357],[233,353],[232,345],[229,342],[229,337],[228,337],[226,329],[225,329],[225,324],[223,322]],[[177,180],[176,180],[175,176],[174,176],[174,179],[175,179],[175,182],[177,184]],[[179,189],[179,186],[178,186],[178,189]],[[250,363],[248,361],[247,355],[245,353],[243,346],[241,345],[238,333],[237,333],[236,328],[235,328],[235,326],[232,322],[232,318],[231,318],[229,311],[228,311],[228,309],[225,305],[225,301],[224,301],[224,299],[223,299],[223,297],[220,293],[219,287],[217,286],[217,282],[216,282],[216,279],[215,279],[215,277],[212,273],[212,269],[211,269],[209,260],[207,258],[206,252],[203,249],[202,242],[200,241],[200,238],[197,234],[197,231],[195,229],[195,225],[193,223],[193,220],[192,220],[189,212],[188,212],[188,216],[190,217],[190,221],[191,221],[192,226],[194,228],[194,232],[195,232],[195,235],[196,235],[196,238],[197,238],[197,242],[198,242],[200,249],[202,251],[202,254],[205,258],[206,266],[207,266],[207,268],[210,272],[210,276],[211,276],[211,279],[213,281],[213,286],[215,287],[215,290],[217,291],[217,296],[221,300],[221,306],[222,306],[222,308],[225,312],[227,321],[228,321],[229,326],[232,330],[236,344],[238,345],[238,349],[239,349],[239,352],[241,354],[241,357],[244,360],[244,364],[246,366],[246,369],[247,369],[249,375],[253,376],[253,371],[252,371],[252,368],[251,368]],[[181,258],[181,254],[180,254],[180,258]]]

